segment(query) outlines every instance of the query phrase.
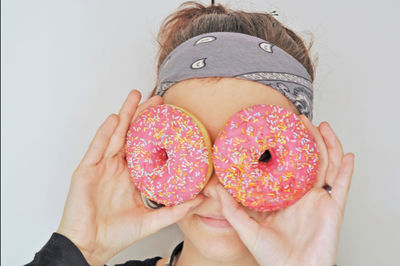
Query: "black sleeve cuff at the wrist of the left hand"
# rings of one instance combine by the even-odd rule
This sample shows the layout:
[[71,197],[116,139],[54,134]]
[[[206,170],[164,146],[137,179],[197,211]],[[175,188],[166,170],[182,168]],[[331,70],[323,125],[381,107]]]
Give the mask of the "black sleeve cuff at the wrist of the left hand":
[[81,251],[67,237],[54,232],[46,245],[35,254],[29,266],[90,266]]

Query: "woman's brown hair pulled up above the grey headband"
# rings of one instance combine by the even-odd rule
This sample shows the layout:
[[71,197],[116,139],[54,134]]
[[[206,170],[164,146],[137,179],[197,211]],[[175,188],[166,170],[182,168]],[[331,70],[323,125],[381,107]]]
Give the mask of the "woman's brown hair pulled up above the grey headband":
[[[280,47],[296,58],[314,81],[314,65],[309,56],[313,40],[306,47],[294,31],[285,27],[270,13],[232,10],[222,4],[204,6],[194,1],[182,3],[177,11],[162,22],[157,35],[159,50],[156,56],[156,80],[165,57],[179,44],[194,36],[215,31],[244,33]],[[148,98],[155,95],[156,88],[157,84]]]

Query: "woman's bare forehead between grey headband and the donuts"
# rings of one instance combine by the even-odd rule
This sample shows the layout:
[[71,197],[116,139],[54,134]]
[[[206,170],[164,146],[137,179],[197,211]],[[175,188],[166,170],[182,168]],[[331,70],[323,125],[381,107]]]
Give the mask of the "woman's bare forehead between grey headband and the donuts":
[[237,78],[195,78],[180,81],[163,95],[164,103],[184,108],[208,130],[212,142],[226,121],[256,104],[274,104],[299,114],[279,91],[264,84]]

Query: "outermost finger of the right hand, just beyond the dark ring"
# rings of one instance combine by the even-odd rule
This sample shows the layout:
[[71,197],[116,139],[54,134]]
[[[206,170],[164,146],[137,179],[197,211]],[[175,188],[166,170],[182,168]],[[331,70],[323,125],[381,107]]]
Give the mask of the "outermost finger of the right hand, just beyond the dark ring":
[[350,190],[351,178],[353,176],[354,158],[354,153],[347,153],[343,157],[339,174],[332,185],[331,197],[339,204],[343,211]]

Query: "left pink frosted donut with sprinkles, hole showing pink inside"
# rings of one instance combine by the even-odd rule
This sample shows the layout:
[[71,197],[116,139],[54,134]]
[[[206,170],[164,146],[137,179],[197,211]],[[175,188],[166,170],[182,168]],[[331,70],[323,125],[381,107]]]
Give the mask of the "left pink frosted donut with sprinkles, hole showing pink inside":
[[143,110],[128,130],[126,159],[137,188],[166,206],[193,199],[212,174],[212,144],[204,125],[171,104]]

